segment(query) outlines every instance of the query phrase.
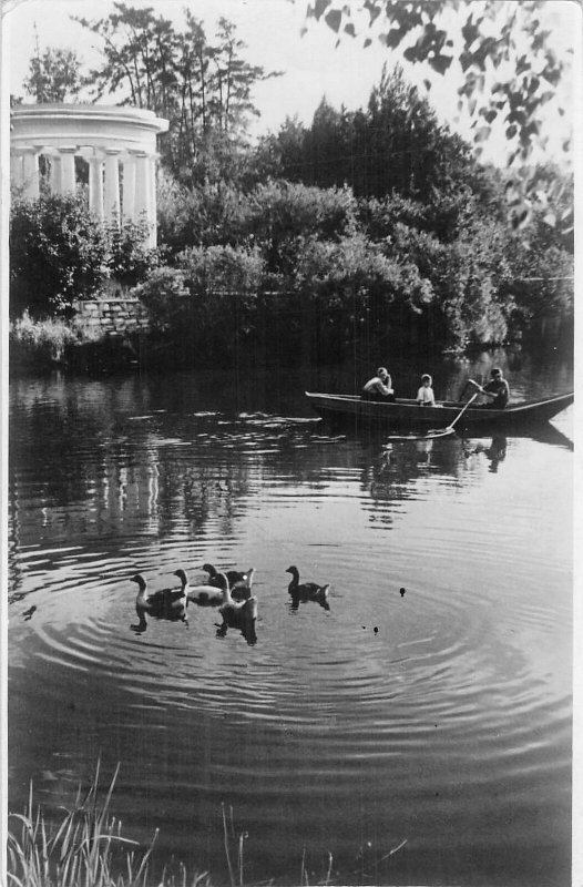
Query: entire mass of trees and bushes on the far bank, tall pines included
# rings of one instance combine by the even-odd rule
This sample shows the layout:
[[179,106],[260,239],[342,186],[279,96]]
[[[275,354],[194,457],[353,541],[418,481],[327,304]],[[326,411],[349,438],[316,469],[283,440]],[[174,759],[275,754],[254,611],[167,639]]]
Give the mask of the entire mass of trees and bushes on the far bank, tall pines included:
[[[365,109],[323,100],[309,126],[287,120],[252,144],[253,86],[270,74],[244,60],[228,22],[208,41],[191,13],[182,30],[121,3],[108,19],[81,21],[104,43],[103,65],[89,75],[96,94],[121,91],[171,121],[155,254],[140,253],[139,231],[124,233],[121,252],[111,232],[102,244],[96,223],[79,218],[82,198],[72,214],[78,241],[83,232],[108,257],[84,294],[112,274],[135,285],[153,317],[150,353],[228,361],[241,349],[320,359],[360,349],[374,361],[389,346],[488,345],[533,335],[549,318],[572,322],[572,234],[558,224],[572,212],[572,181],[540,167],[554,196],[541,193],[509,222],[512,181],[439,123],[401,69],[383,72]],[[65,82],[58,62],[38,54],[31,94]],[[74,96],[79,84],[67,82]],[[13,309],[38,316],[39,292],[47,308],[67,312],[71,281],[88,279],[84,249],[84,276],[67,277],[65,296],[63,274],[55,293],[42,289],[40,217],[16,201]],[[75,265],[70,236],[64,258],[58,253],[53,265]],[[29,304],[27,292],[35,293]]]

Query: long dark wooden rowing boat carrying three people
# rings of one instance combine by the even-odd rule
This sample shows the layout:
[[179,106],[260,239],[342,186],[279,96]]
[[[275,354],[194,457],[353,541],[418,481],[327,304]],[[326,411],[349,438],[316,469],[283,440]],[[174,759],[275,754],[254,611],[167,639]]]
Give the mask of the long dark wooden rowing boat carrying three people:
[[[436,407],[420,407],[412,398],[397,398],[391,404],[361,400],[359,395],[328,395],[306,391],[311,406],[324,419],[342,420],[359,426],[395,428],[446,428],[459,416],[463,401],[438,400]],[[574,392],[509,404],[505,409],[469,407],[456,427],[510,429],[545,422],[575,399]]]

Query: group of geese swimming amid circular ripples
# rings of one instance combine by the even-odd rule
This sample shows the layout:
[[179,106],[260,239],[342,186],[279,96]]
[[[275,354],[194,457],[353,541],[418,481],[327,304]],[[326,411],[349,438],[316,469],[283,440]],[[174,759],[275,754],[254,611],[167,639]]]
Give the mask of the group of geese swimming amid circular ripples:
[[[217,626],[219,635],[226,634],[228,629],[238,629],[248,643],[254,643],[258,613],[257,597],[252,594],[255,569],[252,567],[244,572],[221,571],[212,563],[205,563],[203,570],[208,573],[205,583],[191,585],[186,571],[181,568],[174,571],[174,575],[180,580],[180,587],[158,591],[149,591],[147,582],[141,573],[133,575],[130,581],[137,585],[135,609],[140,622],[132,628],[139,632],[145,631],[146,614],[156,619],[187,622],[186,608],[188,603],[195,603],[198,606],[218,608],[222,618],[222,623]],[[297,567],[288,567],[286,572],[292,574],[288,592],[293,606],[297,608],[304,601],[316,601],[329,610],[329,583],[326,585],[316,582],[300,583]]]

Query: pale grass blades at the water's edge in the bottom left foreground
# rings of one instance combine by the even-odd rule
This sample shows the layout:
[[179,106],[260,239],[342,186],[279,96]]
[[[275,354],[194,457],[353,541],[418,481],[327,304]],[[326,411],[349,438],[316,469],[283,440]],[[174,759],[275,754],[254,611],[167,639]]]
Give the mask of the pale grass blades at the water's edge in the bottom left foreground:
[[[111,813],[117,765],[103,801],[99,801],[100,764],[85,794],[78,791],[71,809],[63,808],[59,823],[48,824],[40,805],[34,806],[32,787],[23,814],[9,814],[7,840],[8,887],[212,887],[207,871],[188,875],[184,865],[173,865],[155,878],[151,871],[157,829],[150,845],[123,837],[122,825]],[[231,887],[245,887],[244,843],[236,834],[233,809],[223,805],[223,837]],[[318,884],[329,885],[333,855]],[[269,881],[272,885],[274,881]],[[299,887],[308,887],[305,852]],[[258,887],[258,885],[257,885]]]

